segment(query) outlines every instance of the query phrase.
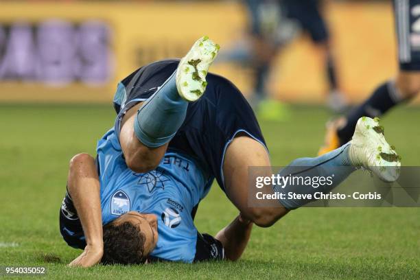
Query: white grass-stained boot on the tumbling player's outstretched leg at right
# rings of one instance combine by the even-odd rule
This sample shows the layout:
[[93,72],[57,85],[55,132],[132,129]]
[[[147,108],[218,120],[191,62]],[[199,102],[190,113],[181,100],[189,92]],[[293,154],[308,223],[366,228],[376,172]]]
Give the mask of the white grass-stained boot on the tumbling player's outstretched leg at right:
[[356,124],[349,159],[356,167],[364,167],[385,182],[394,182],[399,177],[401,158],[395,148],[386,142],[384,127],[379,118],[361,117]]

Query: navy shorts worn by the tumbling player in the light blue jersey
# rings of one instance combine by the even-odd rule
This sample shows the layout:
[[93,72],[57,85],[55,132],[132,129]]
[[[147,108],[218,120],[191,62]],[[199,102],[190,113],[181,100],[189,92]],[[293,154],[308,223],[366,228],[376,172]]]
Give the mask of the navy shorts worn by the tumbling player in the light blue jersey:
[[[119,120],[135,104],[148,99],[178,67],[179,60],[161,60],[141,67],[121,81],[114,98]],[[255,114],[244,95],[229,80],[220,75],[207,75],[207,89],[196,102],[187,108],[187,116],[169,150],[177,150],[192,156],[202,165],[224,190],[222,165],[224,153],[235,135],[240,132],[266,142]]]

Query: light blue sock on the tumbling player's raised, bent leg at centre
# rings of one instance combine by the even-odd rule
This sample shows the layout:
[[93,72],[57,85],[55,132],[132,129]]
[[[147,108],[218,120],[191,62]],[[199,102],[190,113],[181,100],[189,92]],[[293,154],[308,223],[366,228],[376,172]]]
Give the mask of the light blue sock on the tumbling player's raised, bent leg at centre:
[[176,71],[137,112],[135,135],[150,148],[169,142],[187,114],[188,102],[179,96],[175,77]]

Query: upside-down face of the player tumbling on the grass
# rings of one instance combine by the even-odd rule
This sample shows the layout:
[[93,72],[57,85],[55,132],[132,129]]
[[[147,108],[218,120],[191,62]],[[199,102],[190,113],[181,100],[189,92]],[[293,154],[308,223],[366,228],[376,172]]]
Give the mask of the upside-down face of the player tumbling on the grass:
[[149,255],[158,240],[157,231],[157,218],[154,214],[139,213],[136,211],[130,211],[121,215],[121,217],[115,220],[116,224],[122,224],[124,222],[130,222],[141,231],[145,236],[144,242],[144,255]]

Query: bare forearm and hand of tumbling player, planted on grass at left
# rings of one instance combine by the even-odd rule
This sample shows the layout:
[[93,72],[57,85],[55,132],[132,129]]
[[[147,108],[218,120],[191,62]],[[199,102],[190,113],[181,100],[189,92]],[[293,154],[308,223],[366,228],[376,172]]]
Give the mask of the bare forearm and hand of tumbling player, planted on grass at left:
[[95,160],[89,154],[77,154],[71,159],[67,188],[82,223],[86,247],[69,266],[89,267],[101,261],[104,253],[100,181]]

